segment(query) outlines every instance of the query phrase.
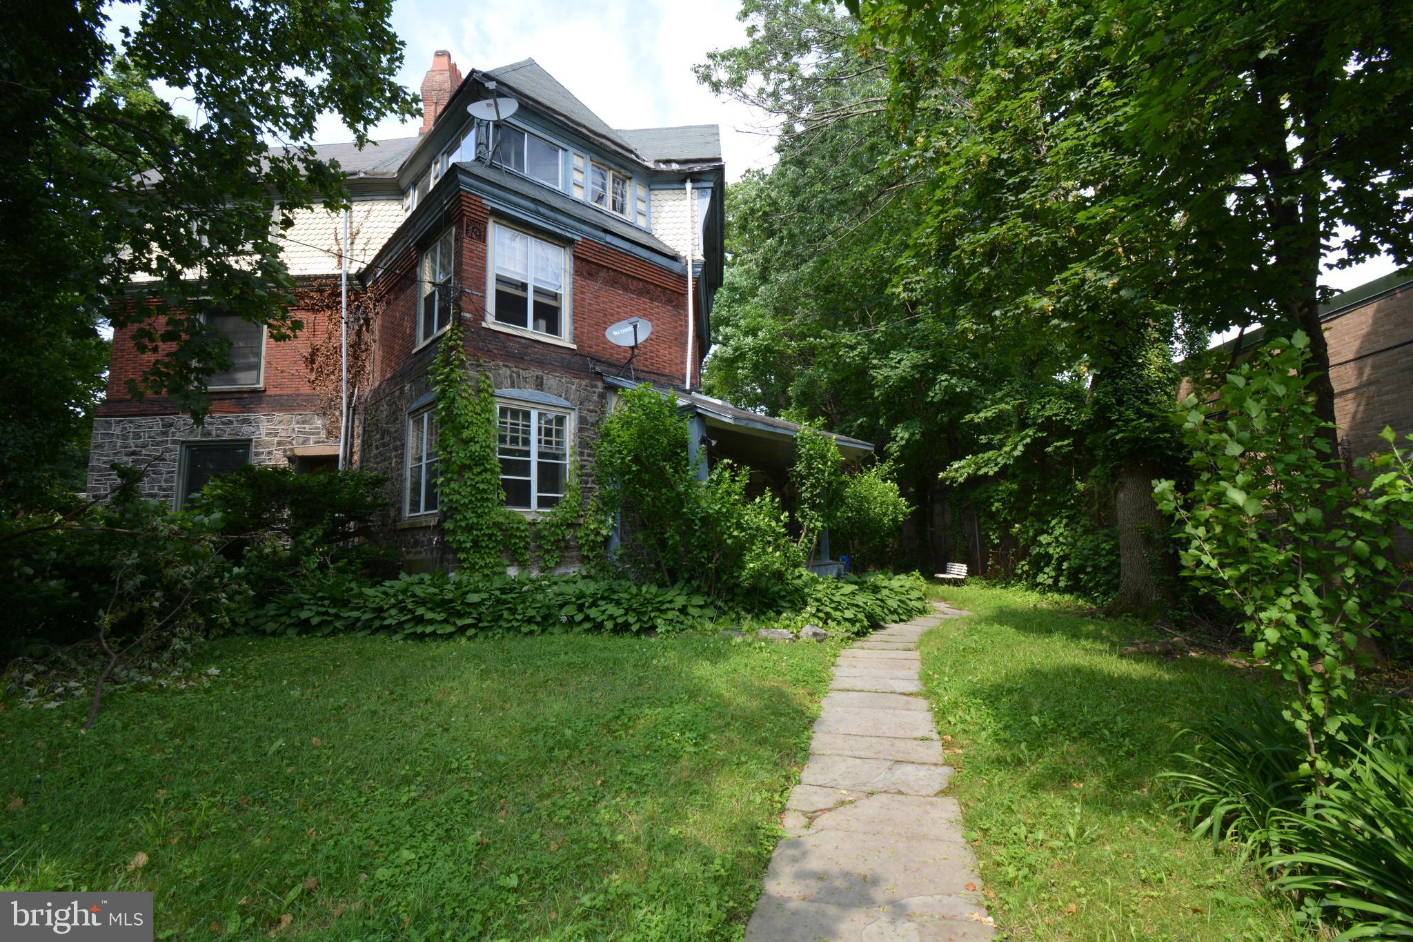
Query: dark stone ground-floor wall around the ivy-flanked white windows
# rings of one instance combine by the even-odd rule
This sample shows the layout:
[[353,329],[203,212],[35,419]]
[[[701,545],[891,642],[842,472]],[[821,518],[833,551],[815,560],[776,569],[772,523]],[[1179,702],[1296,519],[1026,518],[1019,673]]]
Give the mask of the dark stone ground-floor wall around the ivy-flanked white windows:
[[[441,527],[428,524],[425,518],[406,520],[403,517],[407,415],[413,403],[431,391],[431,381],[427,377],[428,364],[430,357],[418,359],[408,369],[389,377],[366,401],[357,405],[355,417],[357,467],[377,472],[387,479],[384,494],[393,504],[393,510],[384,515],[379,527],[379,538],[400,549],[404,568],[410,572],[438,568],[455,569],[455,559],[442,539]],[[536,390],[560,397],[574,405],[574,453],[579,459],[579,476],[586,499],[593,489],[591,443],[608,408],[603,383],[596,377],[584,378],[544,373],[507,363],[485,363],[482,366],[490,373],[497,391]],[[577,564],[578,558],[571,547],[565,554],[564,566]]]

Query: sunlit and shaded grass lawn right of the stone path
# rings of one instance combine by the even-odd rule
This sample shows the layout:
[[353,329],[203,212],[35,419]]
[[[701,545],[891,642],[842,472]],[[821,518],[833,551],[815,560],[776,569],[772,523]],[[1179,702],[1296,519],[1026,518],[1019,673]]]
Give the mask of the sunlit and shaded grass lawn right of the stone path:
[[996,925],[1017,939],[1299,939],[1253,867],[1166,811],[1173,737],[1241,708],[1263,675],[1217,658],[1125,655],[1137,626],[992,588],[933,589],[975,613],[921,643]]

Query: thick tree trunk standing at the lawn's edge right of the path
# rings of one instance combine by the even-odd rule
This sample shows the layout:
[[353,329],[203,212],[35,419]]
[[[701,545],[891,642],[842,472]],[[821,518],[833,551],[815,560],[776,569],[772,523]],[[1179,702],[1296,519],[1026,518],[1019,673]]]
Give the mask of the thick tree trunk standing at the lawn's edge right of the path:
[[1153,503],[1154,469],[1130,462],[1119,470],[1113,487],[1113,523],[1119,531],[1119,595],[1116,614],[1149,617],[1169,600],[1170,582],[1160,578],[1167,565],[1163,552],[1163,515]]

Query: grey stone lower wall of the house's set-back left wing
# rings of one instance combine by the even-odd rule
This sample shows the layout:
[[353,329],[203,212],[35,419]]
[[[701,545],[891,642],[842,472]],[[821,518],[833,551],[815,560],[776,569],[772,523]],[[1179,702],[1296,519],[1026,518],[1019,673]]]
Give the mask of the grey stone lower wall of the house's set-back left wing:
[[326,445],[324,417],[318,412],[263,412],[253,415],[208,415],[196,427],[187,415],[144,415],[95,418],[89,452],[88,493],[112,493],[119,477],[109,465],[147,467],[140,484],[143,494],[172,500],[181,473],[182,442],[249,439],[256,465],[285,465],[285,451],[300,445]]

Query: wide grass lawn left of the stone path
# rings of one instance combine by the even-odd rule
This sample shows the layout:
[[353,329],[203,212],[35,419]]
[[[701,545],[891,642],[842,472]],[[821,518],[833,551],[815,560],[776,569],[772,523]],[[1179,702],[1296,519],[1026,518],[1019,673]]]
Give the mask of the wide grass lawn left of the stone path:
[[3,716],[0,887],[151,890],[158,939],[736,938],[834,652],[222,640],[86,736]]

